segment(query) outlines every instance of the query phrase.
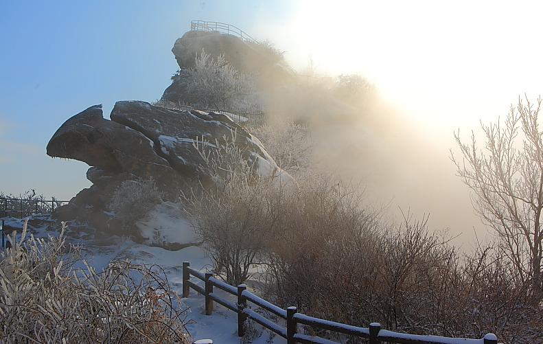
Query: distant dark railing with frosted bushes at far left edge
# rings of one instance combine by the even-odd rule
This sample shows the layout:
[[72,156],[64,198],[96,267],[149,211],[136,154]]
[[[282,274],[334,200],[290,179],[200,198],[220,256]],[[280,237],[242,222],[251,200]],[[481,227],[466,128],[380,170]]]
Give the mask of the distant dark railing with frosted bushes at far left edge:
[[0,218],[12,216],[24,218],[35,214],[49,214],[56,208],[68,203],[67,200],[24,199],[24,198],[0,198]]

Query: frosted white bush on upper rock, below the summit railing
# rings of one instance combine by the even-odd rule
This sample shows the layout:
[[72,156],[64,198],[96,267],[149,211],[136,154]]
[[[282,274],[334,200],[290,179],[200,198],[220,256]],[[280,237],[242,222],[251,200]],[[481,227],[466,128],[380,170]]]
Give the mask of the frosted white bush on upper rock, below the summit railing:
[[200,108],[242,113],[261,108],[255,79],[235,69],[224,55],[213,58],[202,50],[194,67],[178,71],[173,80],[183,84],[185,101]]

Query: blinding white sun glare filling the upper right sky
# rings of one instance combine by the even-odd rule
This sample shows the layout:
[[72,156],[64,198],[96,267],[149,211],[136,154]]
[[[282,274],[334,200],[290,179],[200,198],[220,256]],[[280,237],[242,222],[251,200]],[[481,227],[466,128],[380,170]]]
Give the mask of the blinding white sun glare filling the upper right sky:
[[450,133],[538,95],[541,10],[518,1],[299,1],[273,34],[293,65],[311,59],[321,73],[360,73],[411,120]]

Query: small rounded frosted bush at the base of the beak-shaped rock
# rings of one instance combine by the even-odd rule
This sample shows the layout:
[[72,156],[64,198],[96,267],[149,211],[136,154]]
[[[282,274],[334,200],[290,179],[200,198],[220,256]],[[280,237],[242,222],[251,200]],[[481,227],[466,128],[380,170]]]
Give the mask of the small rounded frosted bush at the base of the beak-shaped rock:
[[113,193],[109,207],[128,227],[161,202],[163,194],[152,179],[123,181]]

